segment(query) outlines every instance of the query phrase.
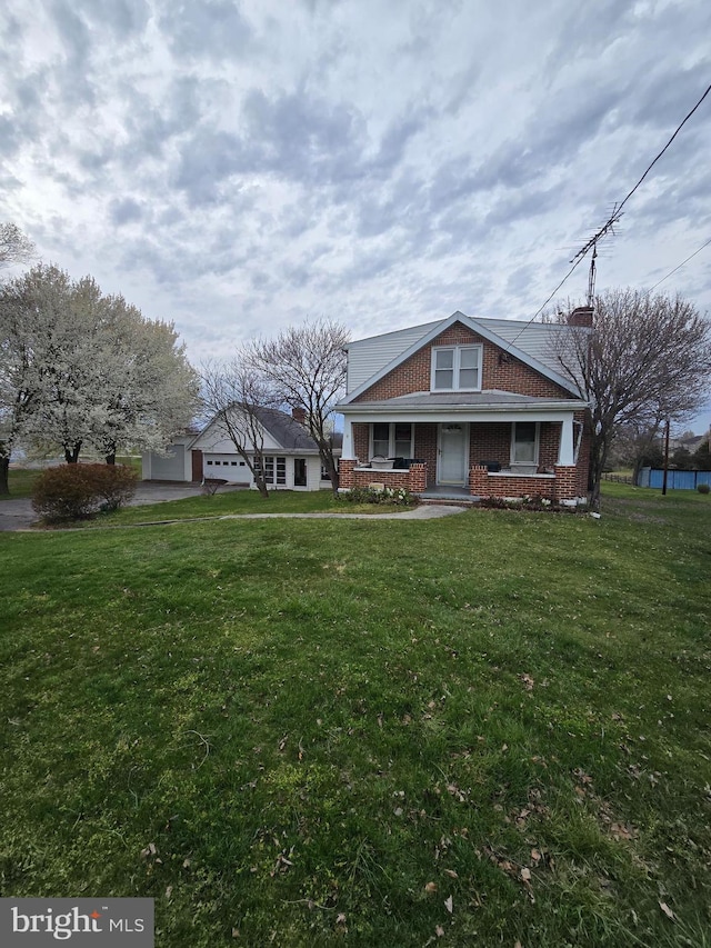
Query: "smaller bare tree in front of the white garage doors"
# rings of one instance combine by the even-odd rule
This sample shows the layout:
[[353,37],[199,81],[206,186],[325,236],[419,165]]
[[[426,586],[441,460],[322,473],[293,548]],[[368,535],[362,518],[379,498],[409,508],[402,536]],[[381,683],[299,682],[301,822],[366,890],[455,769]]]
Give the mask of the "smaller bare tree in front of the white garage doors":
[[201,368],[202,403],[217,441],[227,439],[250,469],[257,489],[269,497],[264,465],[266,409],[278,406],[270,381],[254,370],[244,350],[228,362],[208,361]]

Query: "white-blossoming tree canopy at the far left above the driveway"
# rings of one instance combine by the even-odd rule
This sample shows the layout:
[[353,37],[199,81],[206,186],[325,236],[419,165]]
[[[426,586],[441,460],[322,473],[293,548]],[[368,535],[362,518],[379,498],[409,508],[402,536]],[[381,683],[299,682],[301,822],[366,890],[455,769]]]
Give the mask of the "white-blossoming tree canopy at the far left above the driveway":
[[0,492],[12,447],[162,450],[188,425],[199,380],[174,328],[144,319],[91,277],[40,265],[0,290]]

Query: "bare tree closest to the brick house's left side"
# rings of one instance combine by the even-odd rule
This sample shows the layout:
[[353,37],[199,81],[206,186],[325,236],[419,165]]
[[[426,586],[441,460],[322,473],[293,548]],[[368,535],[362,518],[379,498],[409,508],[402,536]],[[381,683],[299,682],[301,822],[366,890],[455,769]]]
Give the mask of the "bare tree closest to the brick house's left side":
[[304,412],[304,423],[318,445],[334,493],[338,468],[331,417],[346,388],[348,340],[344,326],[321,319],[284,329],[276,339],[256,340],[248,350],[250,365],[272,382],[279,400]]

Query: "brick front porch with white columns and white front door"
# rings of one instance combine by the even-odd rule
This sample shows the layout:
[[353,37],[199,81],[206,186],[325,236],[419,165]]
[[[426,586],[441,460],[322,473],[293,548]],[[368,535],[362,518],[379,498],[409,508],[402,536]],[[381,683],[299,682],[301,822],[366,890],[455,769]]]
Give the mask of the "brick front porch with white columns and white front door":
[[[584,497],[579,465],[580,402],[530,399],[505,409],[407,411],[392,399],[346,413],[341,489],[405,488],[420,496],[542,497],[574,503]],[[541,403],[544,402],[544,403]],[[384,416],[384,417],[383,417]]]

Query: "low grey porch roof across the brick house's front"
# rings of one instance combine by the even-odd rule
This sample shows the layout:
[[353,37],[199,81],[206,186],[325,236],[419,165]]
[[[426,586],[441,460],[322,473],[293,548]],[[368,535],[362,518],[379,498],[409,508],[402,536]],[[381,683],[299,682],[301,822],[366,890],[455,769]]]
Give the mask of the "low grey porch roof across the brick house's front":
[[581,411],[588,402],[580,399],[537,398],[510,391],[489,389],[478,392],[415,392],[379,401],[340,403],[343,415],[422,415],[523,411],[544,413]]

